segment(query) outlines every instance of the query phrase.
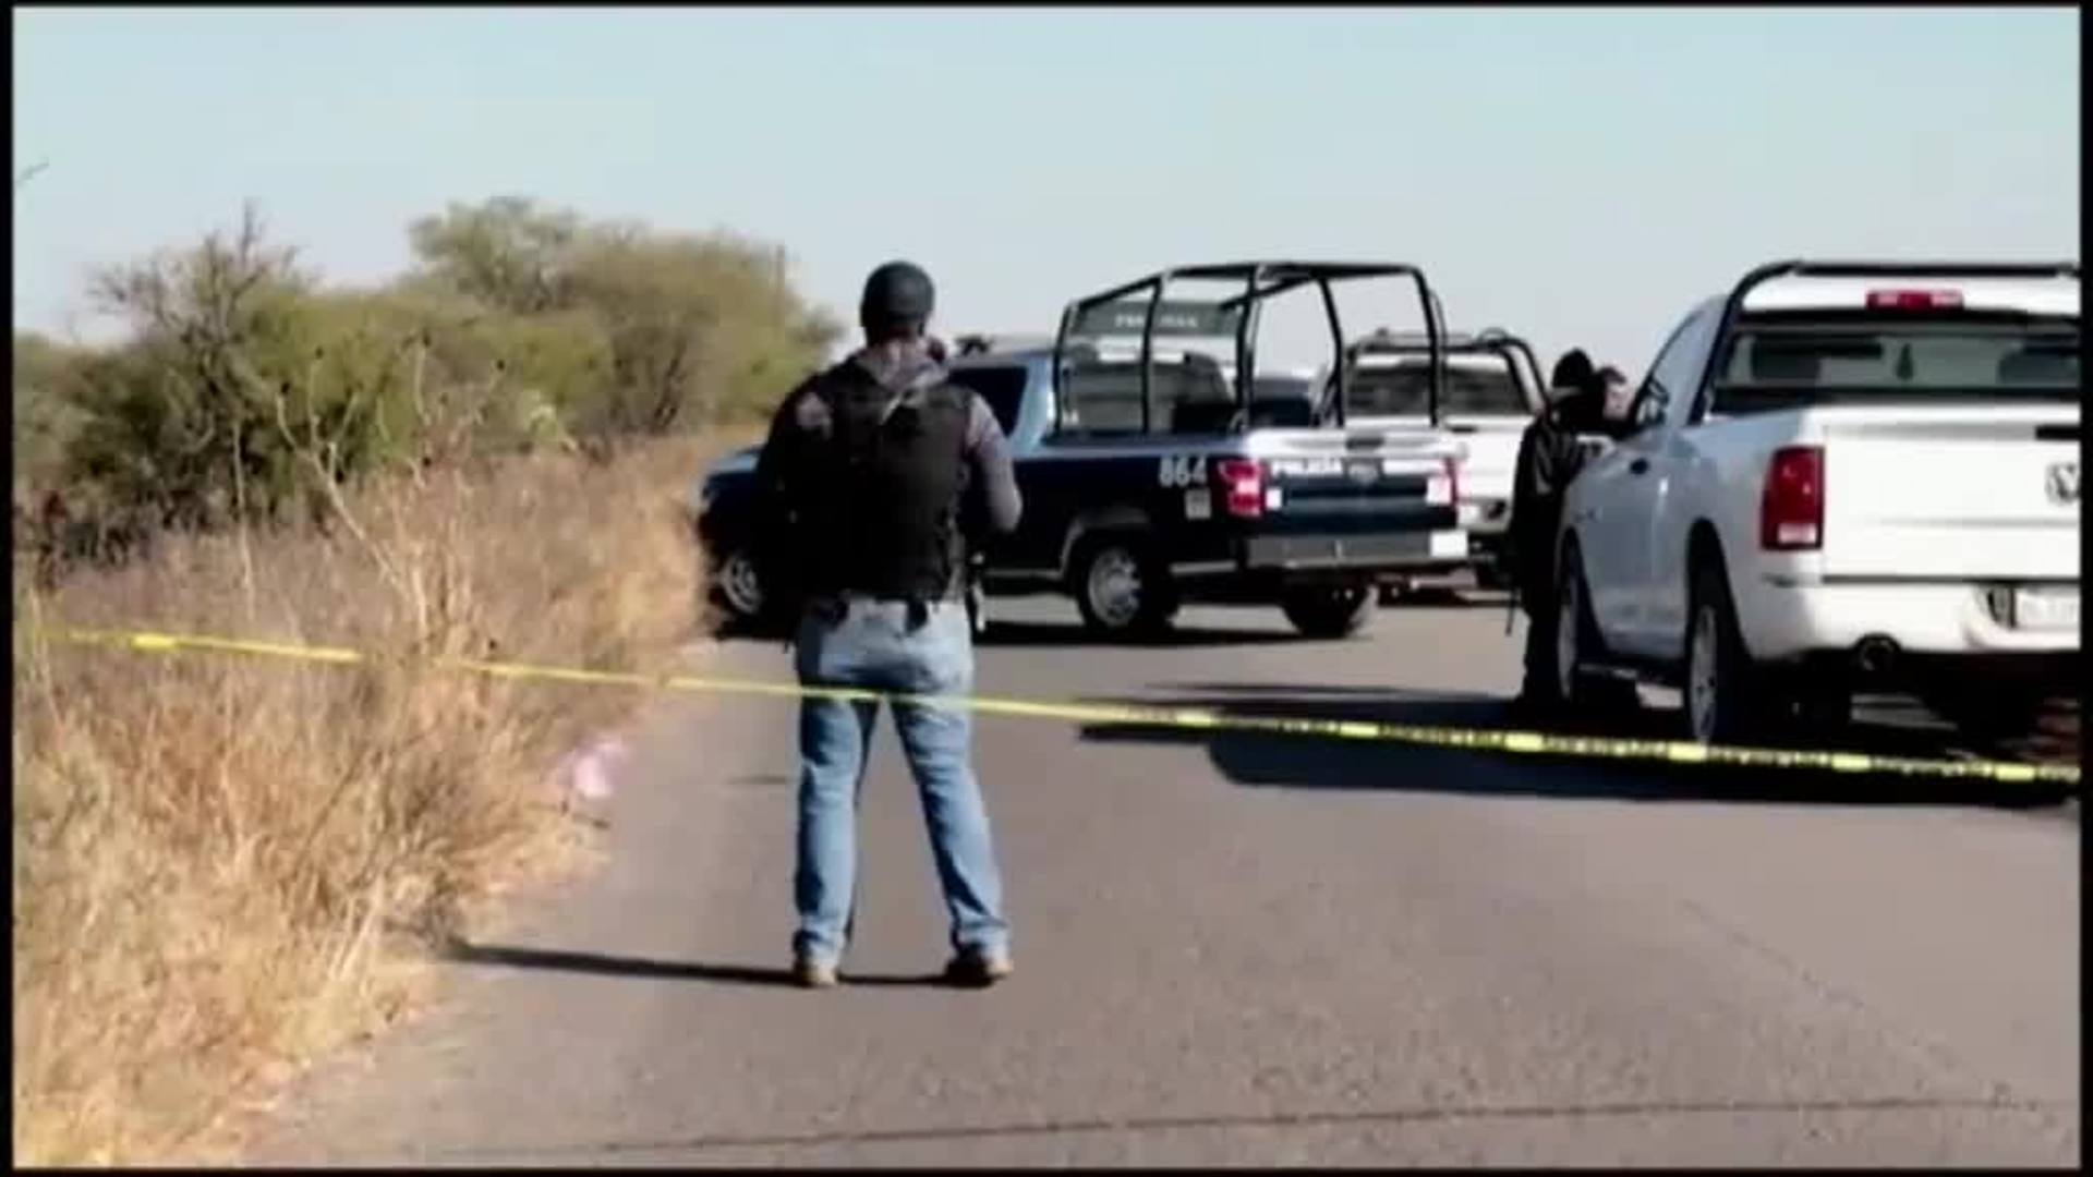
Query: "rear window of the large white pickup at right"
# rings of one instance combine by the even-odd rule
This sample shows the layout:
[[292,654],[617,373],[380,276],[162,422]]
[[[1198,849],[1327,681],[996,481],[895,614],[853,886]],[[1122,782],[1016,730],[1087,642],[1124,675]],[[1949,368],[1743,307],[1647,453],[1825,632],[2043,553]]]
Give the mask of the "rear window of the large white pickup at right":
[[1758,316],[1716,369],[1714,408],[1794,400],[2078,398],[2078,320],[1949,314]]

